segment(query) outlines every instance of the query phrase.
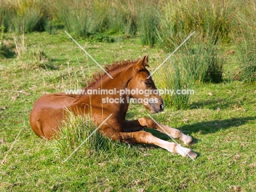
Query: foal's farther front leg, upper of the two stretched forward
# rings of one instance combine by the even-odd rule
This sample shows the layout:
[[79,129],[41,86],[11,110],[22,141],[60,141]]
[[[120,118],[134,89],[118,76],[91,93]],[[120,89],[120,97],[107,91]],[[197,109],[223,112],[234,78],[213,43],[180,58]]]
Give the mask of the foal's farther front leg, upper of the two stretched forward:
[[149,118],[141,118],[138,120],[126,121],[125,122],[125,131],[132,132],[133,130],[139,131],[143,128],[153,128],[166,135],[171,136],[172,138],[179,139],[183,141],[185,144],[189,144],[193,141],[192,137],[185,135],[183,132],[179,131],[178,129],[173,129],[166,125],[162,125],[160,123],[155,123],[152,119]]

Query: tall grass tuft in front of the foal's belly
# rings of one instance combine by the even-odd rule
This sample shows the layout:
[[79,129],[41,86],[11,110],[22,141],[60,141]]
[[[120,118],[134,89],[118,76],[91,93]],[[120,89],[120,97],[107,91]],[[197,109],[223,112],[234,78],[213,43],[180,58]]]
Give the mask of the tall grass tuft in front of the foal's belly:
[[82,158],[94,154],[101,154],[110,149],[111,142],[109,139],[104,138],[98,131],[94,132],[97,126],[89,115],[76,116],[72,112],[68,111],[67,113],[68,119],[63,121],[60,127],[61,131],[55,139],[57,152],[68,156],[85,139],[87,139],[86,142],[83,143],[77,152],[78,156]]

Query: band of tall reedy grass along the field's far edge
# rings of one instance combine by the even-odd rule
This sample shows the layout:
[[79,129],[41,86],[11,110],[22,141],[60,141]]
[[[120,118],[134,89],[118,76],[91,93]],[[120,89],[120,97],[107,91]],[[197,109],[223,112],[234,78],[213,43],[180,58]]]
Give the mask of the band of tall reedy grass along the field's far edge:
[[240,0],[1,0],[0,5],[0,24],[9,32],[51,34],[61,25],[80,37],[98,32],[137,34],[142,44],[159,43],[166,50],[172,50],[194,30],[216,40],[230,40],[241,18],[237,13],[255,20],[255,2]]

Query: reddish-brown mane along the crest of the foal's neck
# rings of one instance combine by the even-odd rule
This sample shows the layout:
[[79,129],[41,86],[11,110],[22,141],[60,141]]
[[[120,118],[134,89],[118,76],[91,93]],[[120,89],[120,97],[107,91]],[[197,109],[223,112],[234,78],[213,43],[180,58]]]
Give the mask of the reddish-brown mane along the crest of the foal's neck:
[[[129,68],[131,65],[137,63],[139,60],[123,60],[113,62],[112,65],[105,67],[104,69],[108,74],[111,75],[114,71],[121,71],[122,69]],[[87,88],[95,86],[97,82],[103,80],[104,78],[108,77],[108,74],[105,72],[98,72],[93,75],[93,80],[88,83]]]

